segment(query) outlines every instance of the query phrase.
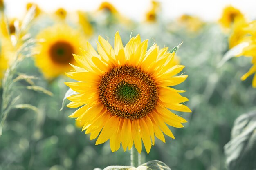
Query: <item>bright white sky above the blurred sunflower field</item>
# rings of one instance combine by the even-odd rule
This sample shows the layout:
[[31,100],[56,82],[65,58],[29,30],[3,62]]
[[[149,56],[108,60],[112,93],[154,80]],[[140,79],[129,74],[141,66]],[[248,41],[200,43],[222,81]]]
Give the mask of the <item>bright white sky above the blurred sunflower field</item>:
[[[63,7],[68,11],[81,9],[93,11],[104,0],[4,0],[7,15],[18,17],[25,13],[26,3],[35,2],[44,11],[55,11]],[[150,0],[105,0],[112,3],[119,12],[135,20],[143,20]],[[217,20],[226,5],[233,5],[249,18],[256,18],[256,0],[158,0],[162,4],[163,16],[175,18],[184,13],[198,15],[204,20]]]

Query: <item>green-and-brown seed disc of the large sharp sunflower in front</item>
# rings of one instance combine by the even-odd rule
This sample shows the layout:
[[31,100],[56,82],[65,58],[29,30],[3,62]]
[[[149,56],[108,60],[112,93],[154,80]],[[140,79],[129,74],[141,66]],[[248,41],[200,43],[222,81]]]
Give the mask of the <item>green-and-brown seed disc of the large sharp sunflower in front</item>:
[[101,76],[99,98],[111,115],[141,119],[155,109],[158,88],[140,69],[119,66]]

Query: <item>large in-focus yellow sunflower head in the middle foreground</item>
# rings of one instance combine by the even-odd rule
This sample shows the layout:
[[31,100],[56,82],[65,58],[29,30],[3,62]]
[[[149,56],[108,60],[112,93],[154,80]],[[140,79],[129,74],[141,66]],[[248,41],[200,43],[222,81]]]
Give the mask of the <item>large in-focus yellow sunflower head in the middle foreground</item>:
[[[176,90],[187,75],[177,75],[184,66],[175,65],[174,53],[157,44],[148,48],[148,40],[132,37],[123,46],[119,33],[115,35],[114,49],[99,36],[97,51],[87,43],[82,56],[74,55],[78,66],[66,75],[79,82],[65,82],[76,95],[68,97],[67,105],[77,109],[70,117],[77,118],[85,134],[95,139],[96,145],[110,140],[112,152],[135,145],[140,153],[142,142],[149,153],[155,136],[165,142],[164,134],[174,139],[168,125],[182,128],[184,118],[171,110],[191,112],[184,104],[188,101]],[[176,76],[177,75],[177,76]]]

